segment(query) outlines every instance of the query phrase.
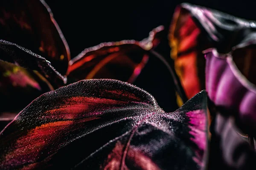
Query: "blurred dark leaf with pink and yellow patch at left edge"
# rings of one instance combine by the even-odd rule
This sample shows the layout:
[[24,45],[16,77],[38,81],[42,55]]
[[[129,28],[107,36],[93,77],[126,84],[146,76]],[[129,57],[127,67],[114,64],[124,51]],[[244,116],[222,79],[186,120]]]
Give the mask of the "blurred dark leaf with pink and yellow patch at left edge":
[[35,98],[51,90],[53,87],[37,71],[0,61],[0,129]]

